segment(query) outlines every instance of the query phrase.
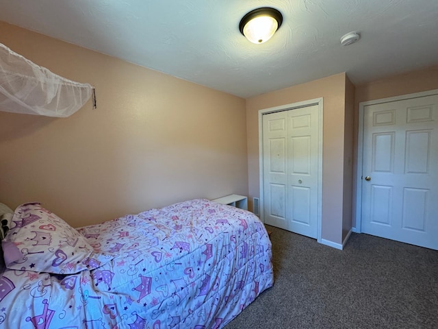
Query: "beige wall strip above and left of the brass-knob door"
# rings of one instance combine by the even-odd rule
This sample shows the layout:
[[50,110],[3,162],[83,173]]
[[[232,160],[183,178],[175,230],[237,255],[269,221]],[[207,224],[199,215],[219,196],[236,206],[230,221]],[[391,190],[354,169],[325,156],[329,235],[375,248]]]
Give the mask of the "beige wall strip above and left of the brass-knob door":
[[[353,214],[356,213],[356,173],[357,173],[357,134],[359,131],[359,103],[387,97],[395,97],[426,90],[438,89],[438,65],[426,69],[412,71],[401,75],[387,77],[383,80],[370,82],[356,87],[355,91],[355,164],[353,186]],[[353,216],[352,226],[356,227],[356,216]]]

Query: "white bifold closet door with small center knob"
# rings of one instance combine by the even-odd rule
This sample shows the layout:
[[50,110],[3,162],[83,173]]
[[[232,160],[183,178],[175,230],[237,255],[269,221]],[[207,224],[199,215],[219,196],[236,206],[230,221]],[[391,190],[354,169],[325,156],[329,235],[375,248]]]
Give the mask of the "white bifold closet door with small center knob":
[[263,218],[312,238],[318,228],[318,110],[263,114]]

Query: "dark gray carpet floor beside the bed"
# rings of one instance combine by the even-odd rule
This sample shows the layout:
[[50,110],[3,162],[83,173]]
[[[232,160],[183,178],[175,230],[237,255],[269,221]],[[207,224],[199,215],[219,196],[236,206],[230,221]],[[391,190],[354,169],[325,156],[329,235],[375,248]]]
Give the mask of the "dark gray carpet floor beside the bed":
[[267,228],[274,287],[225,329],[438,328],[437,251],[355,233],[341,251]]

